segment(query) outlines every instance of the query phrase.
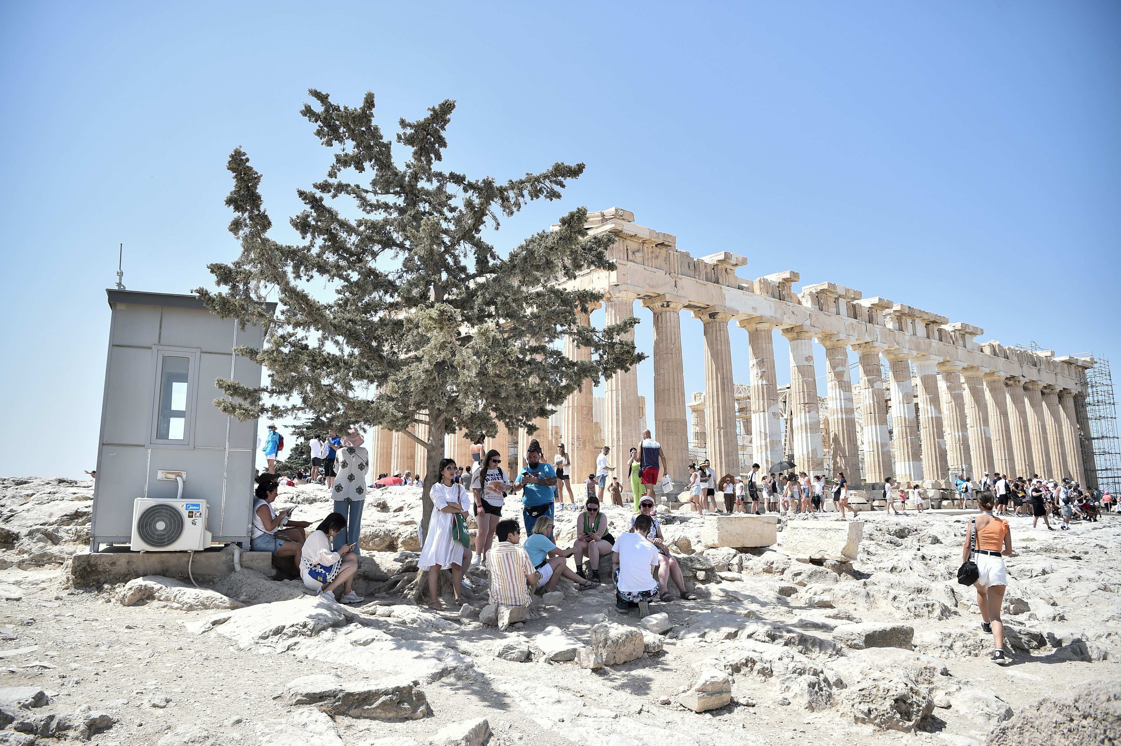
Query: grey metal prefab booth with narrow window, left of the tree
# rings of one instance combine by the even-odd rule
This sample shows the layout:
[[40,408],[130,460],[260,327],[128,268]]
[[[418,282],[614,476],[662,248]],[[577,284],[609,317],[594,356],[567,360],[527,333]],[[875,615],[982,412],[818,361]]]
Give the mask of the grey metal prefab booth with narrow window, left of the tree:
[[248,549],[257,420],[214,407],[223,395],[214,381],[260,385],[260,366],[233,349],[260,348],[263,330],[219,318],[195,296],[106,292],[112,320],[91,551],[130,541],[137,498],[177,497],[180,485],[167,472],[185,473],[182,500],[206,502],[213,542]]

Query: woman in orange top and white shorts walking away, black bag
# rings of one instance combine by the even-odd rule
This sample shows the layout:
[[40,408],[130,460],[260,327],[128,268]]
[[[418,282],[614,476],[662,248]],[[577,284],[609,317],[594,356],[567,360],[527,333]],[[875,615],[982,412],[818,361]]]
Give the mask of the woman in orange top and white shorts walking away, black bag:
[[[1004,624],[1000,621],[1000,607],[1004,603],[1004,590],[1008,587],[1008,572],[1004,569],[1004,557],[1012,554],[1012,531],[1008,521],[992,514],[995,498],[991,492],[978,495],[981,515],[970,523],[965,532],[965,544],[962,547],[962,561],[970,558],[971,545],[975,557],[980,577],[973,584],[978,589],[978,608],[981,609],[981,628],[992,633],[993,652],[989,659],[993,663],[1007,663],[1004,653]],[[974,544],[973,528],[976,530]]]

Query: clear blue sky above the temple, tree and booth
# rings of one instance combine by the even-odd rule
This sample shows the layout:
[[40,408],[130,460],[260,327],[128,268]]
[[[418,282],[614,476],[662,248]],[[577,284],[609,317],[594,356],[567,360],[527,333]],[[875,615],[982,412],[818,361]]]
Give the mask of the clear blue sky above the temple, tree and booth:
[[472,175],[587,164],[500,246],[618,205],[694,255],[747,255],[743,277],[794,269],[1121,366],[1119,44],[1111,1],[3,3],[0,475],[93,467],[120,242],[131,290],[209,283],[237,252],[238,146],[286,229],[330,157],[308,87],[373,91],[383,127],[457,100],[446,162]]

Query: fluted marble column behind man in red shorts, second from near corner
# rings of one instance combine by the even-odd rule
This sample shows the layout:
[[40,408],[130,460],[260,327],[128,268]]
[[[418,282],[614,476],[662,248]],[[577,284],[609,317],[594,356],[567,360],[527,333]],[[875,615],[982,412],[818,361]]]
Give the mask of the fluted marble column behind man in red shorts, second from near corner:
[[[682,362],[684,302],[665,296],[642,301],[654,313],[654,435],[675,483],[688,476],[689,435]],[[641,435],[641,433],[640,433]]]

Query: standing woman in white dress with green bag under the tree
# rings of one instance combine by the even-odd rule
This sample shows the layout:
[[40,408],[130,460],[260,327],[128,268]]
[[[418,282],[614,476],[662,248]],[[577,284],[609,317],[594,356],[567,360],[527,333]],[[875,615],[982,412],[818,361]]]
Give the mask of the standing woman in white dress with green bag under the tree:
[[452,570],[452,589],[455,591],[455,605],[462,606],[463,598],[460,588],[463,582],[463,568],[471,562],[471,550],[452,537],[455,525],[455,514],[466,516],[470,497],[466,487],[455,482],[460,468],[454,458],[439,461],[439,482],[432,486],[432,516],[428,519],[428,533],[425,535],[424,549],[420,550],[418,567],[428,571],[429,606],[441,610],[444,608],[436,595],[439,587],[439,571],[445,567]]

